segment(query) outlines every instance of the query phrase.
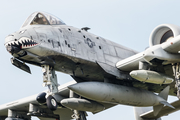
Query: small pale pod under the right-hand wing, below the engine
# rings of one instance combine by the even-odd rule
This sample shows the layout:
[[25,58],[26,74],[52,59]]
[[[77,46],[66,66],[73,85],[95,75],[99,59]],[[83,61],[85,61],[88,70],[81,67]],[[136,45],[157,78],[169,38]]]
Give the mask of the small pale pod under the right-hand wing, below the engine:
[[130,76],[139,81],[154,84],[170,84],[174,81],[172,77],[149,70],[133,70]]

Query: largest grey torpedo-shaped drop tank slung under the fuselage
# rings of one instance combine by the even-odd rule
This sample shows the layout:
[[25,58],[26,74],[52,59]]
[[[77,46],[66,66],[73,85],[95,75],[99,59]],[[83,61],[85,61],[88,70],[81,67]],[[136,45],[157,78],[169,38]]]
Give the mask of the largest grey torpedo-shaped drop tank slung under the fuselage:
[[[75,93],[99,102],[132,106],[156,106],[165,104],[172,107],[162,97],[143,89],[103,82],[82,82],[68,87]],[[166,94],[168,95],[168,93]]]

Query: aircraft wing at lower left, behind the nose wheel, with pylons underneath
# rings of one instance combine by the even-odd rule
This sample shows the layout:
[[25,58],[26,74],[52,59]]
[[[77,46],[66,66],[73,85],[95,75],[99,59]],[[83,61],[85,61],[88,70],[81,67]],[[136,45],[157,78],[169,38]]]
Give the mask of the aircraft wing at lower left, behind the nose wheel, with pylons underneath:
[[[69,89],[67,86],[75,84],[75,81],[71,81],[64,85],[58,87],[58,94],[68,98],[69,97]],[[47,92],[47,91],[45,91]],[[39,104],[36,100],[38,94],[23,98],[20,100],[16,100],[7,104],[0,105],[0,120],[4,120],[8,116],[21,116],[23,118],[27,118],[27,120],[31,119],[31,116],[36,116],[40,120],[70,120],[72,119],[73,111],[67,109],[65,107],[58,107],[57,110],[51,111],[48,109],[46,104]],[[101,103],[105,109],[115,106],[115,104]],[[32,108],[33,106],[33,108]],[[32,109],[38,112],[31,112]],[[105,110],[104,109],[104,110]],[[96,113],[93,113],[96,114]],[[60,117],[60,118],[59,118]]]

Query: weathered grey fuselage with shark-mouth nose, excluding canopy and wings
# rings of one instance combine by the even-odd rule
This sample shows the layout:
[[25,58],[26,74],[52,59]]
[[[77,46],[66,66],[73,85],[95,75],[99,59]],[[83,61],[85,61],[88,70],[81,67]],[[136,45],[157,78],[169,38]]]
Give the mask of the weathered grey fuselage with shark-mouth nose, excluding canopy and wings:
[[[167,85],[142,83],[119,71],[115,65],[137,52],[86,30],[67,25],[27,25],[6,37],[11,54],[34,65],[48,64],[76,81],[105,81],[160,92]],[[122,78],[122,76],[125,76]],[[174,94],[174,89],[170,94]]]

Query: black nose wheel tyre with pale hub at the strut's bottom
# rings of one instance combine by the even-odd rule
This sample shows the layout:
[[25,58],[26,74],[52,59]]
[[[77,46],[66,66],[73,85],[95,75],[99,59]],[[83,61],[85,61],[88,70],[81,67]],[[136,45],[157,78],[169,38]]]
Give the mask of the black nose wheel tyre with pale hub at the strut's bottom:
[[56,99],[53,97],[53,96],[51,96],[51,95],[49,95],[48,97],[47,97],[47,99],[46,99],[46,103],[47,103],[47,107],[50,109],[50,110],[52,110],[52,111],[54,111],[54,110],[56,110],[57,109],[57,101],[56,101]]

